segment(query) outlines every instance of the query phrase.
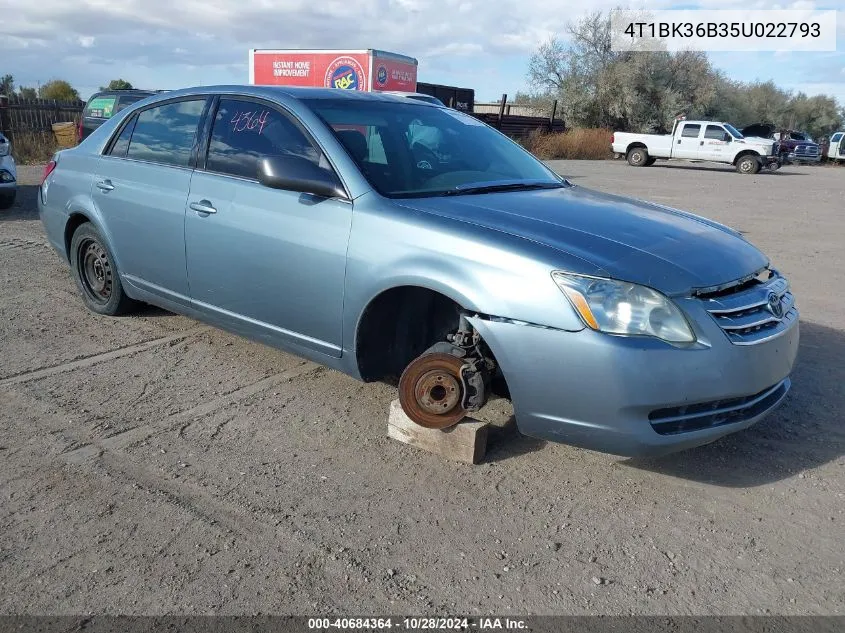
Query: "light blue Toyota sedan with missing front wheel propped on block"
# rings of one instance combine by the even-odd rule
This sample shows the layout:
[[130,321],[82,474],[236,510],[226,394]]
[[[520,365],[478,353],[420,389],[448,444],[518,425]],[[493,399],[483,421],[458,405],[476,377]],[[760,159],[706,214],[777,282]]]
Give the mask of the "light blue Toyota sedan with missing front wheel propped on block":
[[573,186],[403,97],[156,95],[59,152],[39,210],[94,312],[151,303],[398,378],[429,428],[497,394],[527,435],[659,454],[754,424],[790,388],[798,311],[739,233]]

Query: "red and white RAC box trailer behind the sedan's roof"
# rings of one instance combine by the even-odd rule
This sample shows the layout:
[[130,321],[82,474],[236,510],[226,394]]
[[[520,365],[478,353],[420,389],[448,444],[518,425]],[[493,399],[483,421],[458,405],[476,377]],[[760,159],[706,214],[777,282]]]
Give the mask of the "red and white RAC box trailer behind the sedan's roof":
[[417,60],[374,50],[297,51],[253,49],[250,83],[342,90],[417,88]]

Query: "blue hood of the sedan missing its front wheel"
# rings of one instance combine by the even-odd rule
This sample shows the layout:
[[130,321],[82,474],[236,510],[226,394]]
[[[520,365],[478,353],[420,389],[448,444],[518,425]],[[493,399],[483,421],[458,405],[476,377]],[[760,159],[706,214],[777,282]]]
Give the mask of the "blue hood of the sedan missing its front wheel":
[[570,272],[630,281],[675,296],[768,265],[741,234],[717,222],[580,186],[400,204],[554,248],[572,256]]

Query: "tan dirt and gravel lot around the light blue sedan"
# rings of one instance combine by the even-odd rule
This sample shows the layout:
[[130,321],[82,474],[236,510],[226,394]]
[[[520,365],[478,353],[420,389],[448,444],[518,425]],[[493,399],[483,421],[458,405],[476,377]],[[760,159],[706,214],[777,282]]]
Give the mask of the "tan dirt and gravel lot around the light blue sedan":
[[845,170],[554,166],[770,255],[802,319],[779,411],[661,459],[506,424],[483,464],[447,462],[386,437],[392,387],[157,309],[87,312],[22,168],[0,215],[0,613],[845,614]]

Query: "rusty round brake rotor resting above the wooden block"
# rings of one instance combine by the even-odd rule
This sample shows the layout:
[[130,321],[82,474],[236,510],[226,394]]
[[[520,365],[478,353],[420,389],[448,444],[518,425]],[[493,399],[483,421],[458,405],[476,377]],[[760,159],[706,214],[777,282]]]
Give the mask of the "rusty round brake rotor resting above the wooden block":
[[399,379],[399,402],[413,422],[427,429],[447,429],[466,416],[461,402],[464,361],[443,353],[411,361]]

